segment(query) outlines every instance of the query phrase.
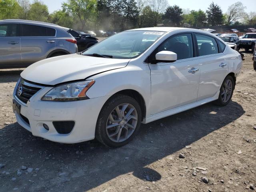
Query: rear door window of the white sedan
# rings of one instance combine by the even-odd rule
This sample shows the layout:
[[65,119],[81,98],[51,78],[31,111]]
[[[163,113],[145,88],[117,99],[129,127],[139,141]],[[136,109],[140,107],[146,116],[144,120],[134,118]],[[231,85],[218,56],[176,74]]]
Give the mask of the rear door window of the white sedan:
[[196,34],[196,42],[198,46],[198,53],[199,56],[205,56],[205,55],[212,55],[212,54],[218,54],[218,44],[215,40],[215,38],[202,35],[202,34]]

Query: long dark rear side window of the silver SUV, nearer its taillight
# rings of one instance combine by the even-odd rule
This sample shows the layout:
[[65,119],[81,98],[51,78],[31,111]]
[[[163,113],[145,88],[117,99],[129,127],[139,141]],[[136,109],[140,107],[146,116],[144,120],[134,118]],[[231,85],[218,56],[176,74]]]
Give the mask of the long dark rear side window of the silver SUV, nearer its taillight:
[[22,24],[22,36],[24,37],[55,36],[55,29],[44,27],[44,26],[38,26],[38,25]]

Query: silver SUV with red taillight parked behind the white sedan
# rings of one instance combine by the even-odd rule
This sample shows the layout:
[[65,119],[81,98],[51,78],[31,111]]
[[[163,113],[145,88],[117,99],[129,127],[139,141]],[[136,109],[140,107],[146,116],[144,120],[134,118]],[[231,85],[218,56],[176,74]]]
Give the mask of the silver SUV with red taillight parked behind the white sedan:
[[77,52],[76,39],[61,26],[27,20],[0,21],[0,68],[23,68],[42,59]]

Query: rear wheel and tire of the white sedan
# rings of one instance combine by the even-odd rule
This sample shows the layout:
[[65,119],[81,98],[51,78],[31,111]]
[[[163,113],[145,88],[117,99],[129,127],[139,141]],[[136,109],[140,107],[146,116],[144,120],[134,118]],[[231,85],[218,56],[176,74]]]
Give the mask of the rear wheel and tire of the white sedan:
[[216,100],[216,104],[219,106],[226,106],[233,96],[234,88],[234,79],[230,75],[226,76],[220,87],[220,94],[218,100]]

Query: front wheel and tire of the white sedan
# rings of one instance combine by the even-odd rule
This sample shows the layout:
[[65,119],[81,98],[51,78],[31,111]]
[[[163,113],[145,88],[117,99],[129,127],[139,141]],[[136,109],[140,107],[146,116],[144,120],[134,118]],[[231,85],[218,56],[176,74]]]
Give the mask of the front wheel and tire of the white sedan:
[[140,122],[141,109],[138,102],[130,96],[117,94],[102,107],[95,137],[108,147],[121,147],[134,138]]

